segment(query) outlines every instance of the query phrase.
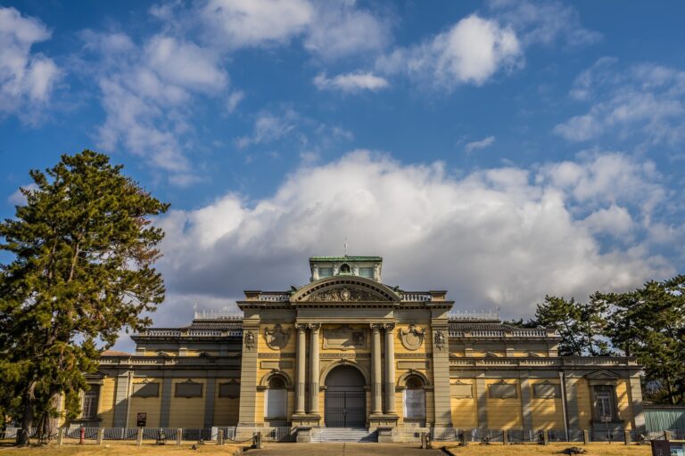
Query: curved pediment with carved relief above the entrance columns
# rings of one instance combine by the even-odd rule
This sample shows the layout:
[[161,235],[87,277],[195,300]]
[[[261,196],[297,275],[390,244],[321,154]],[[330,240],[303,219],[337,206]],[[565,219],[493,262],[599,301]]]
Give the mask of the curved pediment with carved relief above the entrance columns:
[[381,283],[360,277],[326,278],[302,287],[291,297],[291,302],[364,303],[398,302],[400,297]]

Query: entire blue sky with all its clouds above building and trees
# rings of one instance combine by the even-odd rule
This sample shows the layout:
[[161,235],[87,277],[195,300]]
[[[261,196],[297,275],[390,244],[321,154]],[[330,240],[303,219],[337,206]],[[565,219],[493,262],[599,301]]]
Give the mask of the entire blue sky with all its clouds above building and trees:
[[2,2],[0,215],[29,169],[110,154],[171,203],[159,324],[345,238],[462,309],[630,289],[683,265],[684,10]]

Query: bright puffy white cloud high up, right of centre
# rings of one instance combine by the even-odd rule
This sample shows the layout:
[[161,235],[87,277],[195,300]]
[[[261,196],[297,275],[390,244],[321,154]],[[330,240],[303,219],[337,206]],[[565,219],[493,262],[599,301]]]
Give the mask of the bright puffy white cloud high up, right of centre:
[[512,28],[473,14],[421,45],[395,50],[377,65],[428,87],[453,90],[483,85],[500,69],[523,65],[523,52]]

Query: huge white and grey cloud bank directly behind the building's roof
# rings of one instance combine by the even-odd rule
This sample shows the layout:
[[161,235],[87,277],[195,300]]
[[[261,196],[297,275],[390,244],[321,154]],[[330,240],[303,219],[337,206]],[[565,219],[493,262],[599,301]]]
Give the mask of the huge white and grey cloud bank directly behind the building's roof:
[[[639,190],[611,186],[619,165]],[[307,257],[340,254],[345,239],[352,254],[384,256],[385,283],[448,289],[460,309],[532,314],[546,293],[628,289],[673,273],[646,243],[607,247],[596,237],[643,230],[641,217],[661,200],[650,167],[599,154],[456,177],[441,163],[368,151],[303,164],[263,199],[229,193],[159,220],[169,289],[160,319],[187,318],[194,300],[223,307],[243,289],[300,286]]]

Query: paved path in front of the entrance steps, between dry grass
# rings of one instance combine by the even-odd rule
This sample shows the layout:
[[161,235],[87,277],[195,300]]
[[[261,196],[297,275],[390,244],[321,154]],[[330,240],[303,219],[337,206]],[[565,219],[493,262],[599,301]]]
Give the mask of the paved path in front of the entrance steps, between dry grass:
[[444,455],[440,450],[421,450],[419,444],[264,444],[263,450],[249,450],[245,456],[392,456]]

